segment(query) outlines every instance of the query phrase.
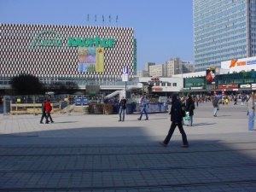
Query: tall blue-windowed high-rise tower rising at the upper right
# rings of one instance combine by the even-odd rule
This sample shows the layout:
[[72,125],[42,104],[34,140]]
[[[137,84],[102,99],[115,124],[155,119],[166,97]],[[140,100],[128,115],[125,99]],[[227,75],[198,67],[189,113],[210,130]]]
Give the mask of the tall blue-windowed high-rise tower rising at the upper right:
[[255,0],[193,0],[195,71],[256,55]]

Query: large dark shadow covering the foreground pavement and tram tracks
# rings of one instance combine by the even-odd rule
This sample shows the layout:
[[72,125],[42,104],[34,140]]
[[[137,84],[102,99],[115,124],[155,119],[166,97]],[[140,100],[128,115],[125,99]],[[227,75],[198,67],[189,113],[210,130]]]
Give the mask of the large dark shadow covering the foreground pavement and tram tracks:
[[[67,132],[71,137],[58,137],[67,136]],[[44,137],[48,133],[56,137]],[[224,143],[202,138],[189,141],[189,148],[180,148],[181,137],[175,135],[164,148],[139,126],[40,131],[40,137],[32,137],[37,134],[38,131],[14,134],[13,140],[0,145],[0,190],[256,189],[254,141]],[[144,135],[147,140],[132,143],[143,138],[137,135]],[[20,142],[12,143],[15,139]],[[116,141],[97,143],[102,139]]]

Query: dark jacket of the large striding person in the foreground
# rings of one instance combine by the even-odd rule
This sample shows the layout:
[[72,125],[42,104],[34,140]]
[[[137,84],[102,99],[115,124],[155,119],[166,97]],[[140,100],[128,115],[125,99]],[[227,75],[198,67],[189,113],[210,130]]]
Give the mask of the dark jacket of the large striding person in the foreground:
[[172,96],[172,108],[171,108],[171,121],[172,122],[182,122],[183,114],[182,114],[182,105],[181,102],[177,100],[177,96]]

